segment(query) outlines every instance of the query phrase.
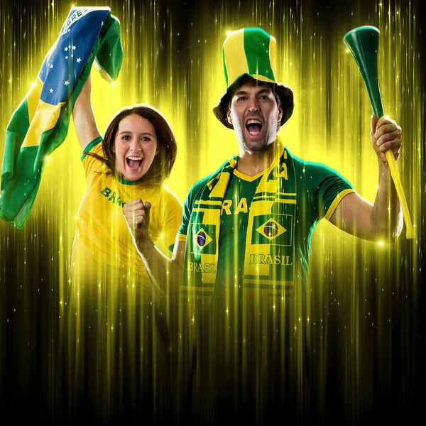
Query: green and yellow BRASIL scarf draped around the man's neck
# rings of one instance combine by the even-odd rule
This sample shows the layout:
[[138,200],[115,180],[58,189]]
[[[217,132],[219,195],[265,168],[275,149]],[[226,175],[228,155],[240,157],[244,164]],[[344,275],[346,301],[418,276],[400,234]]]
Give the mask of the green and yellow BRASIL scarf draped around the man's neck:
[[[293,157],[279,149],[265,170],[249,209],[242,285],[246,293],[285,297],[295,279],[296,179]],[[186,236],[182,295],[212,295],[217,276],[221,211],[238,158],[229,158],[197,195]]]

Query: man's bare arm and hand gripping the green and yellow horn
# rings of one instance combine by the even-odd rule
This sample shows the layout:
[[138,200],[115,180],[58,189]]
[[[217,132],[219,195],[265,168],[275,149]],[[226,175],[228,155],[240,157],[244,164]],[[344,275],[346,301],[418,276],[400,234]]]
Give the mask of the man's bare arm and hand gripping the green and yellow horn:
[[386,116],[371,116],[371,144],[378,157],[378,190],[373,204],[359,194],[346,195],[330,222],[343,231],[371,241],[395,241],[403,228],[400,202],[386,161],[391,150],[398,159],[401,129]]

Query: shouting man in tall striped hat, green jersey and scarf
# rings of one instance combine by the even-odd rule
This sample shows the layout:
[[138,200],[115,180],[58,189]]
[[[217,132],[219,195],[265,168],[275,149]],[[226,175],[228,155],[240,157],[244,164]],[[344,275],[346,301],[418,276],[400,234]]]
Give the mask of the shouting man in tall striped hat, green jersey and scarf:
[[[275,286],[278,281],[286,283],[283,294],[288,294],[293,293],[295,276],[302,283],[307,279],[310,239],[323,217],[371,241],[393,241],[402,229],[400,203],[385,154],[391,150],[398,158],[400,127],[386,116],[371,117],[371,143],[379,167],[378,191],[371,204],[334,170],[299,160],[284,148],[277,133],[293,113],[293,92],[275,80],[274,52],[275,38],[260,28],[234,31],[224,42],[228,89],[214,114],[236,132],[239,157],[227,160],[191,188],[171,265],[176,271],[185,265],[185,283],[189,275],[191,288],[202,281],[203,296],[212,295],[218,279],[226,280],[222,275],[229,267],[222,266],[229,263],[229,257],[224,248],[240,249],[235,272],[244,272],[247,283],[273,278]],[[149,203],[133,200],[126,204],[124,215],[141,256],[151,272],[155,269],[158,282],[165,283],[161,278],[166,268],[153,267],[163,259],[153,250],[146,231],[150,208]]]

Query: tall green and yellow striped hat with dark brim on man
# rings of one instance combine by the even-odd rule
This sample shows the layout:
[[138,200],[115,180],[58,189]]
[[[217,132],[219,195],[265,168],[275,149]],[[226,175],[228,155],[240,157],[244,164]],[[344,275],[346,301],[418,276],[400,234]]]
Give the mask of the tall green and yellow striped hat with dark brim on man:
[[223,45],[224,72],[226,92],[219,104],[213,107],[214,115],[224,124],[233,129],[226,119],[226,109],[229,104],[230,89],[238,84],[241,77],[249,75],[261,82],[275,84],[275,94],[278,94],[283,107],[283,118],[280,125],[290,119],[294,108],[293,90],[290,86],[278,83],[275,77],[275,52],[277,42],[261,28],[243,28],[232,31],[226,37]]

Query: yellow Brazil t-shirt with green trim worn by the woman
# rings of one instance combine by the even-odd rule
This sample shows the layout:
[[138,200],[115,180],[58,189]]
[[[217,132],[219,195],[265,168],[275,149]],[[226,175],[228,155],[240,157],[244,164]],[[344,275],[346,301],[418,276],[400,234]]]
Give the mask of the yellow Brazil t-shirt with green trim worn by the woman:
[[[103,156],[102,138],[89,143],[85,152]],[[132,306],[151,303],[153,285],[136,251],[123,215],[126,202],[141,198],[152,204],[148,233],[155,242],[173,251],[182,217],[182,204],[163,186],[141,184],[105,173],[106,166],[91,155],[82,155],[87,186],[77,212],[72,244],[71,299],[85,305],[99,303]]]

